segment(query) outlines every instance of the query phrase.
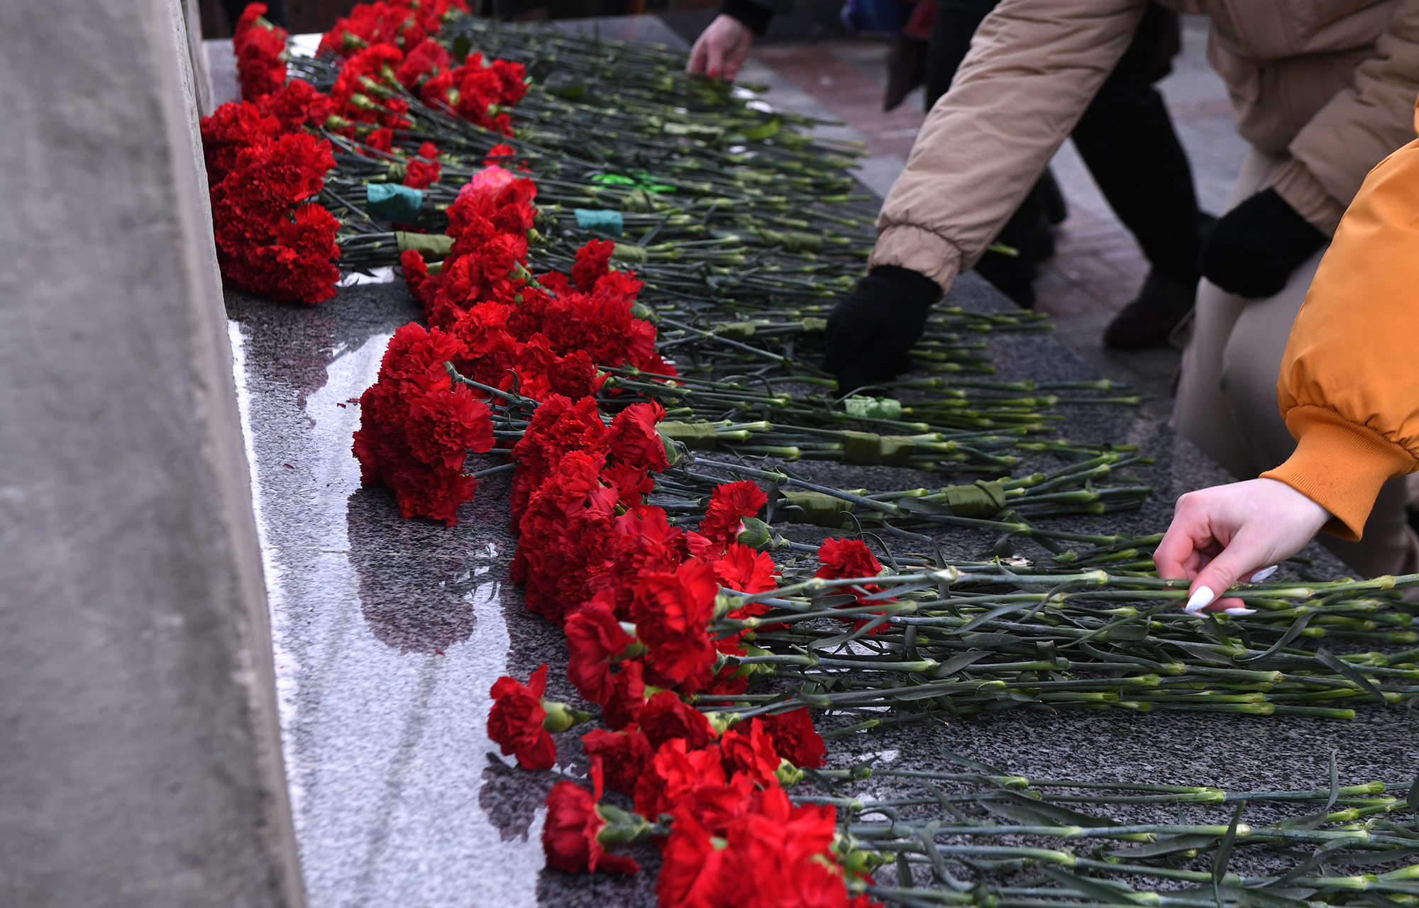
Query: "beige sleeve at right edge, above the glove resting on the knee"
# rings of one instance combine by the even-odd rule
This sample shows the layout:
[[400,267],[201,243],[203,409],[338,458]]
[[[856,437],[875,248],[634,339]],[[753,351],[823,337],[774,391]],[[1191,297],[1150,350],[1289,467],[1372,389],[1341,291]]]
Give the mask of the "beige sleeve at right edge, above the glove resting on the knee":
[[1335,231],[1369,169],[1413,138],[1419,95],[1419,0],[1401,0],[1375,54],[1296,135],[1271,187],[1321,233]]

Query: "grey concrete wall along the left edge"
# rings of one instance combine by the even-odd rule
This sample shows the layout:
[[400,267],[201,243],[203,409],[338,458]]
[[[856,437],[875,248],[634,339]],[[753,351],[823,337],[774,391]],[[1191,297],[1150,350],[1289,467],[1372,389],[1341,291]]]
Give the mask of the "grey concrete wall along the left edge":
[[0,3],[0,904],[298,907],[182,0]]

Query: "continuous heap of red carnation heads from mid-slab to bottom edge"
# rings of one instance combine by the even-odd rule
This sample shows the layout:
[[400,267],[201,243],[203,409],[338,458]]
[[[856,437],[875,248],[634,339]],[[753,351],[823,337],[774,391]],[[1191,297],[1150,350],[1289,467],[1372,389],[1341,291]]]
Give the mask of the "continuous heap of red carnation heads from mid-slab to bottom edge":
[[[582,736],[593,790],[561,782],[549,796],[552,867],[633,873],[634,861],[607,850],[651,836],[664,854],[657,891],[667,907],[867,905],[866,895],[849,901],[833,807],[796,807],[783,790],[800,768],[823,763],[807,711],[729,728],[687,702],[748,687],[752,670],[722,658],[748,653],[741,634],[711,636],[711,623],[766,610],[731,610],[719,594],[778,580],[773,560],[738,539],[766,495],[753,482],[719,485],[697,531],[646,504],[653,475],[675,457],[657,431],[664,410],[634,403],[607,420],[593,394],[600,367],[674,370],[654,353],[654,326],[634,315],[640,281],[610,268],[614,244],[583,245],[569,275],[528,272],[535,193],[532,179],[488,166],[448,210],[454,244],[438,267],[403,254],[430,328],[394,335],[360,399],[363,478],[393,488],[404,516],[453,525],[477,487],[463,474],[465,453],[492,447],[477,394],[536,403],[508,451],[519,539],[512,576],[528,607],[563,627],[568,677],[603,724]],[[861,550],[847,556],[841,546]],[[860,542],[829,548],[832,565],[880,570]],[[526,684],[501,678],[492,691],[490,735],[526,769],[549,769],[551,733],[590,718],[542,698],[546,672]],[[634,799],[634,813],[602,803],[603,787]],[[763,867],[776,871],[768,882],[748,873]]]

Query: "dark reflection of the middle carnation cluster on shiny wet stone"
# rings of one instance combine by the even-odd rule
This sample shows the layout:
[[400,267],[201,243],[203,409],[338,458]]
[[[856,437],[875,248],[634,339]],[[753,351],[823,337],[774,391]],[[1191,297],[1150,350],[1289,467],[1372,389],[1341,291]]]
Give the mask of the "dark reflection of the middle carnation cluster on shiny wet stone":
[[429,521],[392,521],[392,512],[397,505],[386,488],[360,488],[348,501],[360,611],[383,644],[443,653],[473,636],[473,589],[488,577],[467,536]]

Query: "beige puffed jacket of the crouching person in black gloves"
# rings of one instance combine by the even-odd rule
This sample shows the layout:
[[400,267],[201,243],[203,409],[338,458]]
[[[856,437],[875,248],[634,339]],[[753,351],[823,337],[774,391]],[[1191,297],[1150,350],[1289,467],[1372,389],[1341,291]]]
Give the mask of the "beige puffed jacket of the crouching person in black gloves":
[[[870,267],[949,288],[1039,179],[1148,0],[1003,0],[927,116],[877,218]],[[1212,17],[1237,131],[1288,155],[1271,187],[1327,236],[1365,175],[1415,136],[1419,0],[1165,0]]]

